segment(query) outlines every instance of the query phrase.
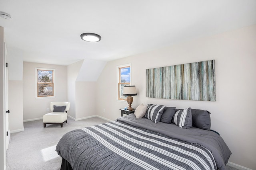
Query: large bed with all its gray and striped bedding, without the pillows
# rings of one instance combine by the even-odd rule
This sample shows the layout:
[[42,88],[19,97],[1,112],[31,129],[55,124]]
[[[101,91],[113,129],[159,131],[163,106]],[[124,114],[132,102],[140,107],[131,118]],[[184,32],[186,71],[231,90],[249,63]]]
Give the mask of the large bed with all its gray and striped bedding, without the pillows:
[[62,170],[225,170],[231,155],[214,131],[155,123],[133,113],[70,131],[56,151]]

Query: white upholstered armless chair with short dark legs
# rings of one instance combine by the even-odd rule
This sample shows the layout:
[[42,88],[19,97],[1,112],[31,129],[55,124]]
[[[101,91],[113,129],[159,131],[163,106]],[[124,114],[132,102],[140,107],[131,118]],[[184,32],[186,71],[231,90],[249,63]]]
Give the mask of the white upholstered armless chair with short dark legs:
[[60,124],[60,127],[63,127],[63,123],[67,123],[69,108],[70,102],[51,102],[50,109],[52,112],[43,115],[44,127],[46,124]]

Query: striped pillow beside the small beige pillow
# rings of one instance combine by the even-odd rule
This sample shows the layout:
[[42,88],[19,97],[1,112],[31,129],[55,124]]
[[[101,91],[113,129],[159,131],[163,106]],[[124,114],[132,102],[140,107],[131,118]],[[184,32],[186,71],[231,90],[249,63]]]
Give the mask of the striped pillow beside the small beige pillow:
[[164,105],[147,104],[147,111],[145,117],[152,120],[154,123],[160,121],[164,112]]

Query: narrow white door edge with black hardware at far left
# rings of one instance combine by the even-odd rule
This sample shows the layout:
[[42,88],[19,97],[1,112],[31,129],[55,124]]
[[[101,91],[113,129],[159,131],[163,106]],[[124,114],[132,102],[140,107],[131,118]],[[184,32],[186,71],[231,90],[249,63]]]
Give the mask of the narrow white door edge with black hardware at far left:
[[9,130],[9,119],[8,119],[8,114],[10,111],[8,110],[8,67],[6,65],[8,61],[7,57],[7,48],[6,48],[6,43],[4,43],[4,124],[5,124],[5,133],[6,133],[6,150],[9,148],[9,142],[10,142],[10,130]]

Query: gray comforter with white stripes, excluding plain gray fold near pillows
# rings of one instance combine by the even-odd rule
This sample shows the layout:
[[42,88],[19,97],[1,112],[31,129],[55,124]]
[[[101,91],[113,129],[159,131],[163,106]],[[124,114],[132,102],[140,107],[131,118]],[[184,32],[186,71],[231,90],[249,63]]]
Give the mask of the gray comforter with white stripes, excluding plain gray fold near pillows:
[[[126,118],[120,118],[120,120]],[[124,121],[66,133],[56,146],[74,170],[214,170],[212,152]]]

